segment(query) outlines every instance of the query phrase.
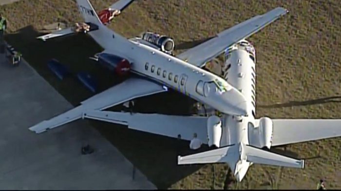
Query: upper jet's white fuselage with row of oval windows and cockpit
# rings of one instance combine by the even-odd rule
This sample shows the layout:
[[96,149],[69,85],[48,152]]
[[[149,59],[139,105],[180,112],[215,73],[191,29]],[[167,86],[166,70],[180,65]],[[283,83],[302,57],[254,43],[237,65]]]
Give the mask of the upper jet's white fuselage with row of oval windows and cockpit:
[[[225,114],[247,115],[244,96],[223,78],[186,61],[163,53],[151,46],[129,41],[106,26],[89,32],[106,53],[118,54],[132,63],[131,70],[191,98],[212,106]],[[119,48],[115,47],[119,45]]]

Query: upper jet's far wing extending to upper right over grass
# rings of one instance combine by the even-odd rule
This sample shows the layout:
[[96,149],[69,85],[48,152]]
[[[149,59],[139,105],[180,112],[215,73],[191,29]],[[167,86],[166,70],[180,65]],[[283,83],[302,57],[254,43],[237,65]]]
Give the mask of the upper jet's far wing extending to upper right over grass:
[[287,12],[287,9],[278,7],[264,15],[255,16],[219,33],[216,37],[187,50],[177,57],[187,60],[187,62],[195,66],[203,67],[207,61],[217,57],[228,47],[250,37],[268,24],[284,16]]

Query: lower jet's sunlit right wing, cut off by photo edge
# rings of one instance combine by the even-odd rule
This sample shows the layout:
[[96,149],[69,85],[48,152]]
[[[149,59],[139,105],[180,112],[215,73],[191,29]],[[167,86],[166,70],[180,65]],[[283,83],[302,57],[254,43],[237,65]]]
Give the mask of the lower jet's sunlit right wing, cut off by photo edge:
[[341,119],[272,119],[272,146],[341,136]]

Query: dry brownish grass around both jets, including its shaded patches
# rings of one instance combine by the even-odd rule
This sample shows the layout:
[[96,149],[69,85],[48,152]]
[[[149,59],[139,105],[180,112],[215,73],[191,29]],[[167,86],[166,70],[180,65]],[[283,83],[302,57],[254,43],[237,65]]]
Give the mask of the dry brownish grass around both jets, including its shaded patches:
[[[91,2],[100,10],[113,0]],[[257,52],[257,116],[341,118],[341,1],[140,0],[110,27],[125,37],[144,31],[169,35],[181,47],[277,6],[290,9],[290,13],[249,38]],[[38,30],[57,18],[66,23],[81,20],[74,1],[22,0],[2,6],[1,12],[9,21],[6,40],[72,104],[91,94],[75,79],[58,81],[46,67],[51,58],[68,64],[75,72],[90,71],[99,77],[102,89],[120,81],[88,59],[101,51],[90,38],[76,36],[46,43],[35,39]],[[316,100],[320,98],[327,99]],[[183,105],[190,102],[177,93],[167,93],[139,99],[137,109],[185,115],[189,109]],[[176,148],[171,146],[176,141],[118,125],[91,123],[158,188],[212,188],[212,165],[176,165]],[[238,188],[315,189],[317,181],[324,178],[327,189],[341,189],[340,138],[294,144],[287,149],[301,158],[322,157],[307,160],[304,170],[254,165]],[[227,165],[215,167],[216,189],[237,188],[229,183]]]

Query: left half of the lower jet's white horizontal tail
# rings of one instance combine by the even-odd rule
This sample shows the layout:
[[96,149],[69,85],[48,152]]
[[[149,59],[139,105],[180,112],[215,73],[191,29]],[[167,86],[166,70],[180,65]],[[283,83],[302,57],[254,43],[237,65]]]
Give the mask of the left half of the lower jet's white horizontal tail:
[[178,165],[188,164],[208,164],[208,163],[227,163],[227,156],[238,157],[238,147],[230,145],[227,147],[191,154],[188,156],[178,156]]

